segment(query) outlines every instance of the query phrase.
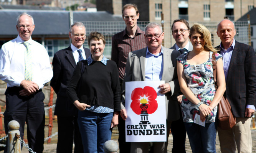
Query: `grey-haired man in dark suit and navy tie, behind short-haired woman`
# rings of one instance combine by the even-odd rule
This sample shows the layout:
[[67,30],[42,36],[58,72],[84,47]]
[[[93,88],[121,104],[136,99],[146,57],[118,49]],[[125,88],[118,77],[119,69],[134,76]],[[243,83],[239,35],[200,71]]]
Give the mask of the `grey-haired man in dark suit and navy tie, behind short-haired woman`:
[[61,49],[53,57],[53,78],[51,86],[57,94],[54,115],[58,116],[58,143],[57,153],[72,153],[74,140],[74,153],[83,152],[81,134],[79,132],[77,114],[78,110],[66,94],[66,88],[73,75],[76,63],[86,59],[91,52],[83,47],[86,38],[85,26],[76,22],[69,29],[71,45]]

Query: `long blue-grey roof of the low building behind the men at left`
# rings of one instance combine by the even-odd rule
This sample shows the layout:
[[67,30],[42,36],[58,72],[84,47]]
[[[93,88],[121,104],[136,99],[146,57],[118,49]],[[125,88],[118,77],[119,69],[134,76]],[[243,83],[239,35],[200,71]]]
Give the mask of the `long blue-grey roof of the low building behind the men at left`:
[[[68,35],[68,11],[0,10],[0,35],[17,35],[17,17],[26,12],[35,22],[33,35]],[[105,11],[73,12],[74,21],[123,21],[122,16],[113,16]]]

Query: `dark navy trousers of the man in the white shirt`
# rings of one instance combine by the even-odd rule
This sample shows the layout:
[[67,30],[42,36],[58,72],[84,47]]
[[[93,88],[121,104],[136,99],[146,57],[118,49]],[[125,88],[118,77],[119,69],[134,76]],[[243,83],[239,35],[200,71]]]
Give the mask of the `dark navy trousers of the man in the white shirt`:
[[[8,133],[8,123],[16,120],[20,123],[20,137],[23,139],[25,122],[29,147],[36,153],[43,152],[45,138],[45,108],[42,90],[30,96],[20,96],[22,87],[8,87],[6,95],[6,110],[4,113],[5,133]],[[5,153],[7,153],[7,145]]]

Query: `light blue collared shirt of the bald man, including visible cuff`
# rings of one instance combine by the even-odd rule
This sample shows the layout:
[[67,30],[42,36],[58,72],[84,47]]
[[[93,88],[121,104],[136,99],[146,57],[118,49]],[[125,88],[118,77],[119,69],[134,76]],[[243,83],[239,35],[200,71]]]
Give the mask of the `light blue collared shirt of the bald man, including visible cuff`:
[[[227,77],[228,77],[228,69],[230,67],[230,60],[231,60],[231,56],[233,53],[233,49],[235,48],[235,44],[236,44],[236,41],[235,41],[235,39],[233,39],[233,43],[230,46],[230,48],[225,50],[223,48],[222,44],[220,43],[220,54],[222,55],[223,69],[224,69],[226,82],[227,82]],[[254,105],[247,105],[246,108],[255,110]]]

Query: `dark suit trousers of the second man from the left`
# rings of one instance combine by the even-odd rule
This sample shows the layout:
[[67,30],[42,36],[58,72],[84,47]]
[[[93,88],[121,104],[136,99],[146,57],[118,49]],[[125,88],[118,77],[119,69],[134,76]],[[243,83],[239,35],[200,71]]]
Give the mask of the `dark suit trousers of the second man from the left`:
[[79,132],[77,116],[58,116],[58,143],[56,153],[83,153],[83,144]]

